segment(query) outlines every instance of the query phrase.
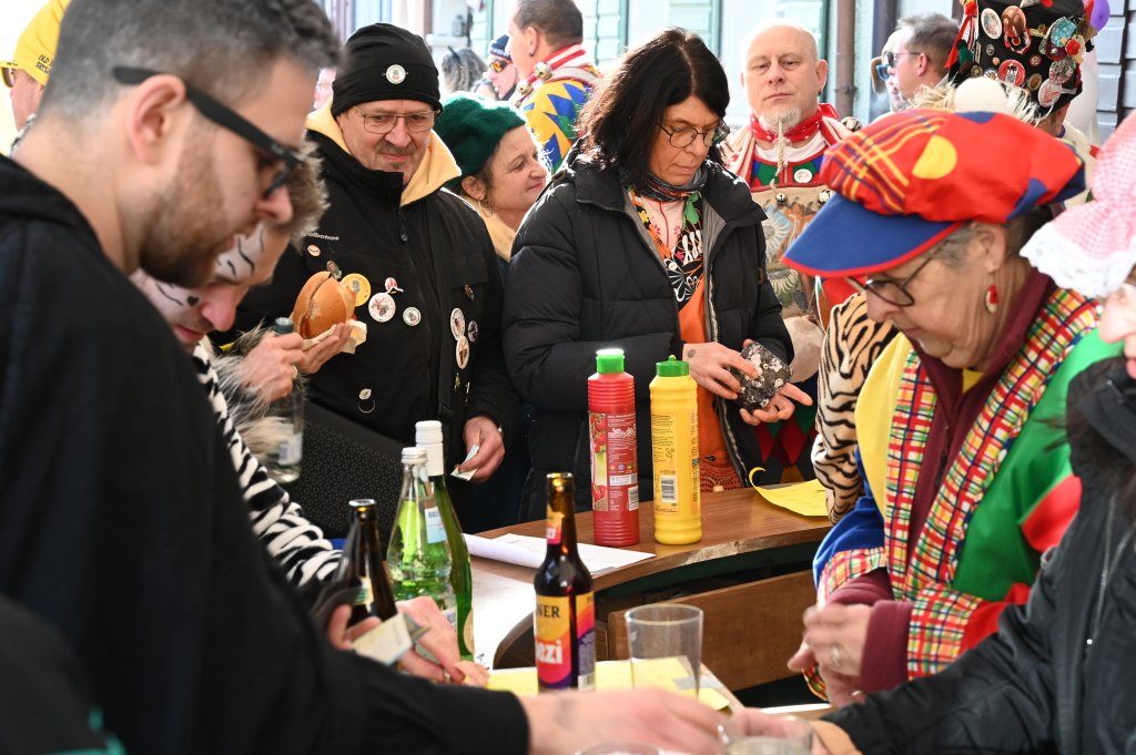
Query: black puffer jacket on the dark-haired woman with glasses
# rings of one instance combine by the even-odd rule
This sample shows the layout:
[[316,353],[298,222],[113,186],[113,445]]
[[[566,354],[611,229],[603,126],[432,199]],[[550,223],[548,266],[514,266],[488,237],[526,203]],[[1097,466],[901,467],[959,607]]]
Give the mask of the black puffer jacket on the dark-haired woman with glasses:
[[[523,504],[528,519],[544,515],[550,471],[571,471],[577,509],[591,509],[587,378],[599,349],[623,349],[625,369],[635,376],[640,497],[650,500],[650,384],[655,362],[683,353],[674,291],[618,177],[573,153],[565,166],[517,234],[506,287],[506,363],[521,396],[536,406],[534,475]],[[792,360],[780,303],[765,274],[765,213],[745,184],[718,166],[702,196],[708,339],[741,350],[753,338]],[[757,434],[737,404],[718,399],[717,406],[730,461],[745,479],[762,462]]]

